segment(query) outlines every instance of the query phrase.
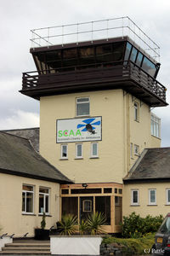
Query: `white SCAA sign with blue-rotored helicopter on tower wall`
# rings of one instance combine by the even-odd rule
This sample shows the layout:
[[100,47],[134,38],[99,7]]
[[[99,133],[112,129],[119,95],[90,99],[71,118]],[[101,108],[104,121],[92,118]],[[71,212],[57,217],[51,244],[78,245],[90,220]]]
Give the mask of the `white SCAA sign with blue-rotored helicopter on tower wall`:
[[101,141],[101,117],[57,120],[57,143]]

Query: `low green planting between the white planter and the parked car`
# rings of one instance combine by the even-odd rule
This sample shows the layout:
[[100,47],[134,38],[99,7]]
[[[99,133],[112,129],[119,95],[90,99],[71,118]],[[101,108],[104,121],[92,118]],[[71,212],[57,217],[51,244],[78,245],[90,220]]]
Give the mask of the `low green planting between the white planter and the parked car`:
[[155,233],[140,238],[105,237],[102,243],[116,244],[125,254],[144,254],[144,249],[151,249],[155,242]]

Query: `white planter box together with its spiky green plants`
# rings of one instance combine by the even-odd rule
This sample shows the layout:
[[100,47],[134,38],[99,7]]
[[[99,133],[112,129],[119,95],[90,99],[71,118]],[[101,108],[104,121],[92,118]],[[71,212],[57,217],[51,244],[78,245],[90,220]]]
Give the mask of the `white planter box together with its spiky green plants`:
[[50,236],[50,249],[52,254],[66,255],[99,255],[99,246],[104,233],[102,225],[105,217],[102,213],[94,212],[87,220],[82,220],[77,229],[77,217],[65,215],[59,221],[60,236]]

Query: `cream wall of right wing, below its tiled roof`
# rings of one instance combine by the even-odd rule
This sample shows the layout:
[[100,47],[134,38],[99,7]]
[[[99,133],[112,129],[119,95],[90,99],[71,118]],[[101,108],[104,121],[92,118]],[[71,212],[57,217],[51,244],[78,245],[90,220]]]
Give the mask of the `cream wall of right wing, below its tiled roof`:
[[[131,206],[131,189],[139,189],[139,206]],[[149,206],[148,189],[156,189],[156,206]],[[166,216],[170,212],[170,205],[167,205],[166,189],[170,189],[170,183],[134,183],[123,186],[122,216],[128,216],[136,212],[141,217],[150,214]]]

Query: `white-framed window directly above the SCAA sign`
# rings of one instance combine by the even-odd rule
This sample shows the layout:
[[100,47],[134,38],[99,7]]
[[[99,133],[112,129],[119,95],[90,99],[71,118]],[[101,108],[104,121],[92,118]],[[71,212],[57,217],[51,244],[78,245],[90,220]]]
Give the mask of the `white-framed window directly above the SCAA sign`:
[[77,98],[77,116],[87,116],[90,114],[89,98]]

